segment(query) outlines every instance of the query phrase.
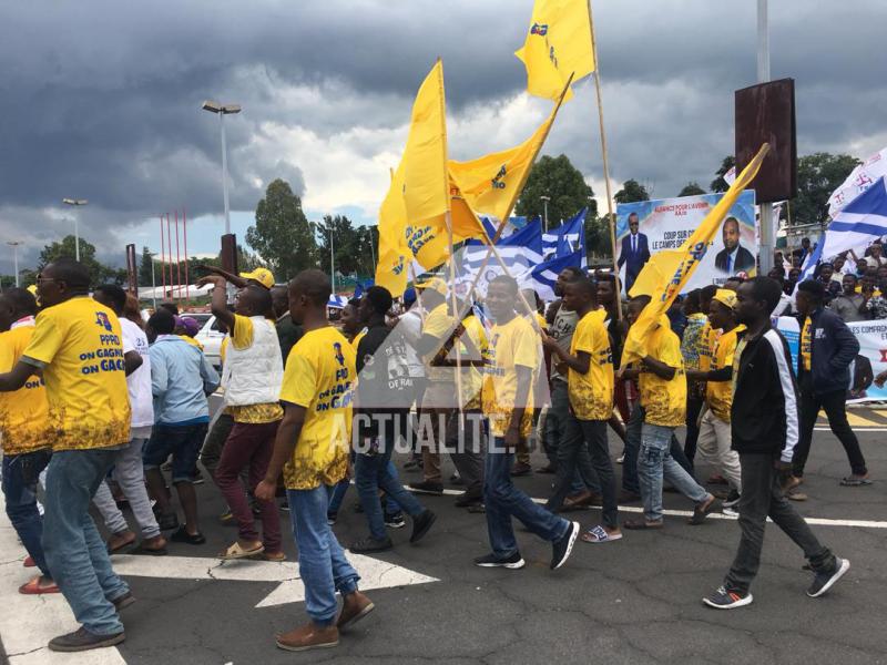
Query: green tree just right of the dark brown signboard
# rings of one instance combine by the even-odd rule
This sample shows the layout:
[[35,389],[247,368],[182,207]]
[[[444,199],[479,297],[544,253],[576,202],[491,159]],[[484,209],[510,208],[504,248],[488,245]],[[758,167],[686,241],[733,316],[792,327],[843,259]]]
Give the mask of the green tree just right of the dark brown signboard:
[[825,224],[828,197],[859,165],[850,155],[814,153],[797,161],[797,196],[792,200],[794,224]]

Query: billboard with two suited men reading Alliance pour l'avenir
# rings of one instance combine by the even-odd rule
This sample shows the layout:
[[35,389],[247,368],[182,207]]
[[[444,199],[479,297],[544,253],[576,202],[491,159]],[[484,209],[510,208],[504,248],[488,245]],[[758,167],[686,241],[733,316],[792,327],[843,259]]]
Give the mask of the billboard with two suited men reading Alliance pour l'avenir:
[[[722,196],[701,194],[620,203],[616,206],[616,262],[625,290],[631,288],[651,256],[683,245]],[[746,190],[730,208],[721,233],[712,241],[687,283],[687,290],[710,284],[722,285],[737,273],[748,277],[756,275],[757,252],[755,193]]]

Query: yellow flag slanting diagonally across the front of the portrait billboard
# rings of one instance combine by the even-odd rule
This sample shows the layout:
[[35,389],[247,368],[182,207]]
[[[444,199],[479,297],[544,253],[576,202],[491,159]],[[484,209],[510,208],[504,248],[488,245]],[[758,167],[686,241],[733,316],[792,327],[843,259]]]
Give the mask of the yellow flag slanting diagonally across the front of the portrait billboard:
[[[721,224],[724,222],[730,208],[736,203],[740,194],[745,190],[757,175],[761,163],[769,151],[769,144],[765,143],[757,151],[755,157],[742,170],[730,190],[723,198],[705,215],[705,218],[696,227],[680,249],[661,253],[653,256],[638,276],[641,283],[640,288],[632,287],[632,295],[649,295],[653,299],[638,317],[634,325],[629,328],[629,336],[625,339],[625,347],[622,351],[622,365],[634,360],[640,360],[646,356],[646,342],[650,334],[655,328],[660,317],[671,307],[674,298],[681,293],[684,285],[695,273],[702,257],[708,249],[712,239],[717,234]],[[662,258],[656,259],[662,255]],[[648,267],[650,268],[648,270]],[[645,273],[650,273],[645,275]]]

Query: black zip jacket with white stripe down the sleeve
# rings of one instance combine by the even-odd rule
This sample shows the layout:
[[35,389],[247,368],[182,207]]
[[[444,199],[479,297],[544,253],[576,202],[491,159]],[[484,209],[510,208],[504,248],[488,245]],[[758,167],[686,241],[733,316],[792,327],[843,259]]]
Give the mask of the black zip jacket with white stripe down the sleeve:
[[798,396],[788,345],[768,328],[755,339],[740,335],[745,348],[730,412],[733,450],[768,453],[791,462],[799,434]]

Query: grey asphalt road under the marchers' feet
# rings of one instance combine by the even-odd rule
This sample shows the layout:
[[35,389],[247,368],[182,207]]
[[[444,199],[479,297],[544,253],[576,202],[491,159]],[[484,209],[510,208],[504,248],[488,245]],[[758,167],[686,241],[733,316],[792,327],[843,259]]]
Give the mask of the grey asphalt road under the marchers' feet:
[[[887,472],[884,436],[860,432],[863,450],[878,477]],[[618,448],[616,442],[611,441],[611,447]],[[541,463],[541,456],[536,457]],[[447,475],[450,469],[447,462]],[[707,478],[708,471],[701,466],[697,475]],[[529,565],[521,571],[483,570],[471,564],[473,556],[488,551],[483,515],[456,509],[452,497],[424,497],[426,505],[439,514],[426,540],[411,546],[409,528],[394,531],[396,549],[374,557],[390,564],[387,567],[402,566],[438,581],[368,592],[376,611],[343,635],[338,648],[293,654],[275,647],[275,633],[300,625],[306,616],[302,603],[256,607],[279,586],[279,580],[258,572],[259,565],[254,581],[213,579],[213,571],[201,579],[129,576],[139,602],[124,612],[128,638],[119,659],[108,662],[887,662],[887,483],[840,488],[838,480],[847,472],[837,441],[817,431],[804,485],[809,500],[797,508],[805,516],[834,521],[814,529],[853,564],[823,598],[805,595],[810,574],[801,569],[802,553],[773,525],[753,587],[754,604],[717,612],[700,601],[721,583],[732,560],[738,540],[733,520],[711,519],[692,528],[681,516],[669,516],[661,532],[626,532],[622,541],[606,545],[579,542],[567,565],[555,572],[548,569],[549,545],[518,529]],[[408,482],[417,474],[401,478]],[[543,498],[551,477],[533,474],[517,482],[530,495]],[[208,542],[201,548],[173,543],[171,555],[211,557],[236,536],[234,529],[215,519],[223,508],[216,489],[210,483],[200,485],[198,495]],[[353,489],[335,526],[344,544],[366,530],[363,515],[353,510],[356,502]],[[665,505],[690,508],[683,498],[670,493]],[[572,514],[583,526],[600,518],[593,510]],[[873,523],[847,525],[847,521]],[[288,524],[284,534],[287,556],[295,561]],[[207,567],[215,565],[207,562]],[[246,566],[243,576],[253,580],[251,563],[242,565]],[[69,626],[73,627],[70,614],[64,623]],[[0,623],[7,644],[10,630]],[[47,659],[11,661],[72,662],[43,655]]]

